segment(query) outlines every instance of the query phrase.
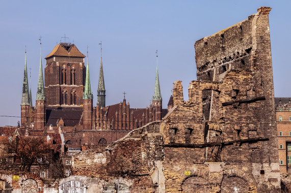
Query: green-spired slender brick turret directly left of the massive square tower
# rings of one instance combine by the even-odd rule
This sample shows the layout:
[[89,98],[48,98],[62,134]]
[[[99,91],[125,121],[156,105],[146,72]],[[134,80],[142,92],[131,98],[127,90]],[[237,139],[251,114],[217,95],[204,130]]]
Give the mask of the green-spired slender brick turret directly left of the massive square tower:
[[35,128],[40,130],[45,126],[45,94],[43,85],[43,73],[42,73],[42,61],[41,61],[41,39],[40,40],[40,62],[39,62],[39,74],[38,74],[38,85],[36,93],[36,104],[35,104]]

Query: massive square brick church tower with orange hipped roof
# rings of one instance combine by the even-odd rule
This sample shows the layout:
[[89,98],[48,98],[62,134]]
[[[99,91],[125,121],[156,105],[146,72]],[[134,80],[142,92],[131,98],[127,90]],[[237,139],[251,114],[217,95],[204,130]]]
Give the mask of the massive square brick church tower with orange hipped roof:
[[45,95],[48,107],[81,107],[85,85],[84,58],[74,44],[60,43],[46,59]]

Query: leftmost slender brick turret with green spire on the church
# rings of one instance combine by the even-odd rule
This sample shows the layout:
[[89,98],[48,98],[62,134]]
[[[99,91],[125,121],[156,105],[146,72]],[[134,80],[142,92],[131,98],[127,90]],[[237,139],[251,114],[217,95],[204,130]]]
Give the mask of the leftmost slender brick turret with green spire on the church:
[[27,49],[25,47],[25,62],[24,62],[24,76],[22,86],[22,98],[21,98],[21,126],[29,125],[29,109],[30,109],[30,94],[29,94],[29,83],[28,83],[28,72],[27,72]]

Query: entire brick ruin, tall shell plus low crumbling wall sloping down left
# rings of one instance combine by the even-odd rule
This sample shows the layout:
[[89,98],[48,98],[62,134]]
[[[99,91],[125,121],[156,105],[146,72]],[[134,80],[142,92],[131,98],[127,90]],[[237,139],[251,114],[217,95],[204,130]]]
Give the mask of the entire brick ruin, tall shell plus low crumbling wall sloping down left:
[[270,10],[198,40],[189,101],[175,81],[162,121],[75,154],[73,175],[99,192],[278,192]]

